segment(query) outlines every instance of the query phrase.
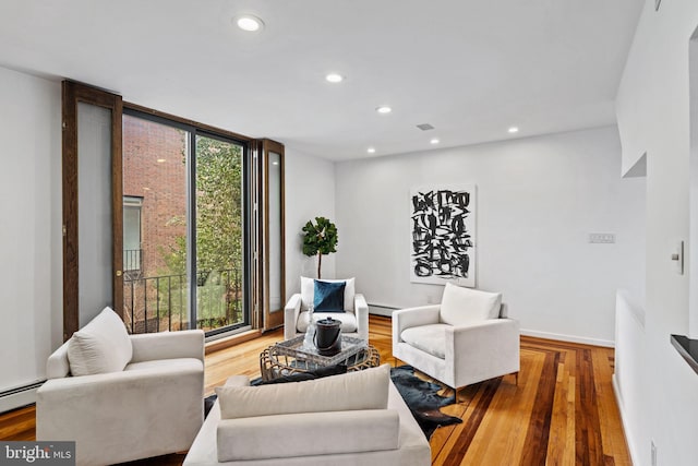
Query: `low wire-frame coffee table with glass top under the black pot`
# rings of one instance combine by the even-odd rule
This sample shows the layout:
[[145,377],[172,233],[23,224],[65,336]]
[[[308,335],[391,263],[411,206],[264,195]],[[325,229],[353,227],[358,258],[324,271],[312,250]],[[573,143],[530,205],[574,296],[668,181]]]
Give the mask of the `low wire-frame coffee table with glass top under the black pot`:
[[341,350],[334,356],[322,356],[314,347],[303,346],[304,337],[277,343],[260,355],[262,380],[274,380],[282,375],[308,372],[321,367],[345,365],[347,371],[359,371],[381,365],[381,354],[360,338],[341,337]]

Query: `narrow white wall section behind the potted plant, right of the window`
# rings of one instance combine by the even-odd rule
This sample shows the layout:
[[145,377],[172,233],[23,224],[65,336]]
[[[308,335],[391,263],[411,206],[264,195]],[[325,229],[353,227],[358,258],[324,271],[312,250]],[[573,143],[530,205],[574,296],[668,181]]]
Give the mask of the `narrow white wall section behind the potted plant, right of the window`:
[[[300,276],[316,277],[315,258],[303,255],[301,228],[310,219],[335,220],[335,165],[323,158],[285,147],[286,297],[300,292]],[[339,230],[338,250],[345,237]],[[335,276],[335,254],[323,256],[323,278]]]

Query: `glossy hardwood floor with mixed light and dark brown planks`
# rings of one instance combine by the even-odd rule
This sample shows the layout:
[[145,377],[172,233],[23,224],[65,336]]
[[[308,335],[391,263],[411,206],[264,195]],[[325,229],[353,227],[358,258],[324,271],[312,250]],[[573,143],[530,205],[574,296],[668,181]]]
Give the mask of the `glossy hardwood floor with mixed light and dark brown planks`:
[[[371,316],[370,340],[383,362],[392,356],[390,320]],[[282,338],[272,332],[206,356],[206,393],[232,374],[260,375],[258,356]],[[398,361],[399,363],[399,361]],[[613,394],[612,348],[521,337],[521,371],[461,389],[443,408],[460,425],[437,429],[433,465],[630,465]],[[449,390],[444,390],[449,395]],[[0,415],[0,440],[33,440],[35,410]],[[167,455],[132,465],[180,465]]]

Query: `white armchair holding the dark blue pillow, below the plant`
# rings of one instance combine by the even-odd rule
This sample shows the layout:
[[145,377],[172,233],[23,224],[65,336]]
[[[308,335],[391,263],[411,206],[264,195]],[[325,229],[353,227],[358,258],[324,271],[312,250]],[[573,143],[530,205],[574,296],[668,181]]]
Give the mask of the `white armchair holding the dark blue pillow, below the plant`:
[[[323,279],[322,282],[346,282],[345,312],[313,312],[318,321],[328,316],[341,322],[341,334],[369,340],[369,304],[354,289],[354,278]],[[284,339],[302,335],[310,324],[309,309],[313,304],[314,280],[301,277],[301,292],[291,296],[284,308]]]

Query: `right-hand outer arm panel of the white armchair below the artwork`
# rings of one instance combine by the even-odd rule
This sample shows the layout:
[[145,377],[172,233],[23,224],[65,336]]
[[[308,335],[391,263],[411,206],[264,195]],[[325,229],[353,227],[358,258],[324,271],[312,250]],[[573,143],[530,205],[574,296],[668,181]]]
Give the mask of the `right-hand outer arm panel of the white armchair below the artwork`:
[[[457,380],[458,373],[464,371],[474,380],[495,377],[491,371],[496,375],[517,372],[519,339],[519,322],[514,319],[490,319],[474,325],[446,328],[446,366],[457,373]],[[456,355],[467,357],[456,358]]]

